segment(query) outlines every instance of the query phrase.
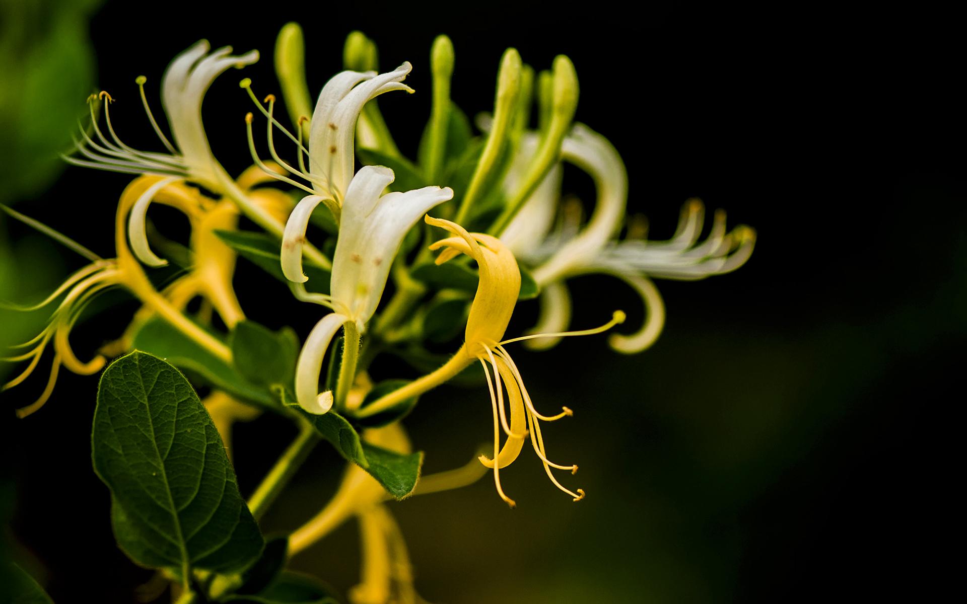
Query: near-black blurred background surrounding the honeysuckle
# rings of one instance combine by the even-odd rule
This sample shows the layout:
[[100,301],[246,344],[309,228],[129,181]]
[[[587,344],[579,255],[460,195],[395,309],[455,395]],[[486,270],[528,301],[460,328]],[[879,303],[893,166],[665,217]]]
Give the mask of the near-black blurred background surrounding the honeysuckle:
[[[107,2],[90,32],[98,85],[118,101],[115,127],[140,148],[156,145],[136,75],[148,76],[155,101],[168,61],[198,38],[258,48],[261,61],[220,77],[205,102],[216,156],[235,173],[249,162],[242,118],[250,110],[236,83],[249,75],[259,94],[278,93],[272,49],[288,20],[306,30],[311,90],[340,69],[353,29],[379,45],[382,68],[414,64],[407,83],[417,94],[380,101],[410,157],[428,114],[427,55],[437,34],[454,41],[453,97],[471,115],[492,106],[508,45],[537,69],[565,53],[581,83],[577,120],[625,158],[629,210],[649,216],[653,237],[671,234],[690,196],[757,230],[737,273],[659,282],[668,320],[651,350],[619,356],[599,336],[515,353],[536,399],[575,410],[546,438],[558,457],[579,463],[568,484],[588,498],[572,504],[522,455],[502,473],[516,510],[489,477],[393,504],[426,599],[929,599],[952,572],[941,551],[959,532],[950,485],[967,328],[962,38],[899,16],[642,17],[600,3],[555,11],[567,18],[519,4],[165,2],[149,12]],[[592,199],[586,177],[568,178],[567,189]],[[17,207],[109,255],[126,182],[71,168]],[[21,258],[79,266],[20,225],[6,227]],[[17,274],[25,297],[44,289],[29,267]],[[314,310],[279,312],[293,306],[269,282],[240,261],[249,315],[305,333]],[[640,320],[639,302],[619,282],[582,277],[571,291],[579,326],[614,307],[627,308],[631,324]],[[81,357],[116,335],[134,307],[78,328]],[[536,304],[522,304],[509,333],[535,317]],[[96,378],[64,372],[42,412],[6,422],[15,552],[55,601],[129,601],[147,576],[116,550],[108,494],[91,471],[96,388]],[[0,395],[5,415],[32,400],[33,391],[17,389]],[[489,417],[484,391],[441,388],[405,424],[434,472],[469,459],[487,440]],[[273,418],[238,427],[244,492],[288,430]],[[320,446],[266,528],[301,524],[340,469]],[[345,590],[357,580],[356,541],[355,528],[343,527],[294,564]]]

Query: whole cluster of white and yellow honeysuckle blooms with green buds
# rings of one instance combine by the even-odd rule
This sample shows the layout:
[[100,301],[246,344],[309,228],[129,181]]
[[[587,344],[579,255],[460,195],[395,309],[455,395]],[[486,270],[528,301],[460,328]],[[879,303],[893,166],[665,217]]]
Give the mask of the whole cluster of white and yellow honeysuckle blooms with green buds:
[[[414,92],[403,83],[412,69],[410,63],[391,72],[375,71],[374,44],[354,33],[346,43],[346,71],[326,83],[311,108],[302,45],[298,26],[290,24],[282,30],[276,65],[292,129],[278,122],[275,96],[260,101],[250,80],[242,82],[257,114],[246,116],[253,165],[237,178],[230,176],[213,155],[202,125],[201,103],[222,72],[256,62],[256,51],[242,55],[232,54],[230,47],[212,51],[202,41],[175,58],[161,81],[170,139],[149,107],[145,78],[137,78],[148,120],[166,152],[144,152],[126,145],[111,124],[112,98],[101,93],[89,99],[90,125],[79,130],[76,152],[67,160],[130,173],[135,178],[118,205],[116,257],[103,259],[70,242],[91,259],[91,264],[73,273],[46,300],[29,307],[40,308],[63,297],[44,331],[22,345],[29,350],[7,359],[29,361],[24,371],[5,386],[12,388],[38,366],[48,345],[53,349],[43,395],[18,414],[27,416],[44,405],[61,365],[80,374],[96,373],[107,357],[130,350],[133,333],[152,317],[161,317],[211,354],[230,361],[231,351],[223,341],[200,328],[197,317],[190,319],[185,311],[190,301],[201,298],[203,312],[218,313],[229,330],[245,319],[232,286],[236,252],[220,240],[216,231],[237,229],[240,217],[246,216],[278,241],[278,266],[290,282],[293,296],[332,310],[308,334],[296,363],[295,394],[308,413],[326,414],[334,407],[348,417],[385,413],[451,380],[477,361],[483,366],[493,411],[492,454],[482,455],[479,461],[492,469],[500,497],[514,505],[501,487],[500,470],[509,466],[530,440],[550,480],[574,501],[581,500],[584,491],[565,487],[552,472],[573,473],[577,466],[552,462],[542,438],[542,422],[569,417],[571,410],[565,407],[556,415],[540,413],[506,346],[527,340],[528,346],[545,349],[563,336],[598,333],[623,322],[624,313],[615,311],[599,328],[567,331],[571,324],[567,281],[586,273],[605,273],[628,283],[645,305],[644,324],[630,334],[611,334],[610,345],[622,353],[640,352],[655,341],[664,321],[663,304],[652,277],[699,279],[733,271],[749,257],[753,231],[746,226],[728,231],[725,215],[719,211],[706,238],[700,241],[703,206],[696,199],[683,208],[670,240],[649,241],[647,228],[638,217],[632,217],[626,227],[625,165],[601,134],[573,123],[577,76],[567,57],[557,57],[551,70],[536,74],[521,62],[515,50],[509,49],[498,73],[494,110],[479,120],[482,134],[471,137],[466,118],[450,100],[454,49],[446,37],[440,37],[430,57],[432,110],[418,165],[398,152],[374,101],[388,92]],[[103,105],[103,126],[99,126],[98,105]],[[538,107],[536,129],[531,129],[533,105]],[[257,153],[255,115],[266,121],[271,160],[263,160]],[[461,131],[466,135],[454,135]],[[295,161],[280,157],[278,136],[294,145]],[[357,169],[357,155],[369,165]],[[577,166],[594,181],[597,198],[586,220],[580,204],[562,199],[563,162]],[[401,171],[406,173],[405,179],[399,178]],[[414,180],[427,186],[403,187]],[[266,187],[278,182],[305,192],[305,196],[293,204],[288,192],[278,186]],[[149,244],[146,216],[152,203],[184,213],[192,229],[189,270],[160,291],[144,269],[167,264]],[[427,216],[429,212],[435,216]],[[318,223],[320,215],[335,227],[335,246],[331,242],[328,248],[316,246],[307,240],[310,223]],[[620,239],[622,232],[625,237]],[[421,237],[425,244],[417,246]],[[440,250],[435,258],[437,265],[460,254],[476,263],[479,284],[463,315],[464,341],[438,369],[361,406],[368,380],[365,363],[360,364],[359,372],[355,364],[360,336],[368,333],[384,342],[419,339],[419,332],[414,335],[401,324],[420,314],[414,314],[414,309],[425,302],[427,287],[411,270],[426,263],[433,250]],[[328,271],[330,282],[308,282],[304,263]],[[469,271],[472,265],[461,266]],[[505,339],[520,297],[521,268],[540,291],[540,321],[530,334]],[[391,272],[394,295],[377,314]],[[316,291],[308,291],[307,283]],[[119,340],[105,346],[92,360],[78,360],[69,343],[70,331],[88,302],[112,287],[127,289],[143,302],[143,307]],[[446,284],[437,289],[446,290]],[[319,290],[328,293],[317,293]],[[327,350],[340,330],[346,342],[341,371],[348,379],[346,384],[340,380],[335,392],[320,392]],[[218,393],[210,397],[210,409],[220,397],[223,395]],[[398,425],[383,430],[373,438],[397,445],[405,442]],[[334,514],[338,515],[334,509],[348,509],[344,505],[347,494],[359,495],[365,478],[362,473],[347,475],[341,495],[308,533],[318,534],[319,523],[331,525]],[[431,488],[435,487],[427,482],[425,489]],[[375,493],[364,499],[381,501]],[[365,531],[398,532],[385,510],[372,506],[366,509],[368,515],[361,515]],[[308,537],[300,534],[293,535],[297,549],[299,543],[308,542]]]

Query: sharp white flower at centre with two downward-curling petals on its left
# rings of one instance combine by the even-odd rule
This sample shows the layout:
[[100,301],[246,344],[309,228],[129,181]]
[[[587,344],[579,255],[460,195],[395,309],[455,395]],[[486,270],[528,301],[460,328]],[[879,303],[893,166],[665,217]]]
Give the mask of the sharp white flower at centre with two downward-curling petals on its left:
[[[330,295],[297,295],[308,302],[329,306],[335,312],[323,317],[309,333],[296,365],[296,399],[309,413],[324,414],[333,405],[332,392],[319,393],[319,371],[329,343],[338,329],[352,323],[360,332],[376,311],[383,295],[396,250],[420,216],[454,196],[449,187],[424,187],[382,194],[394,181],[393,170],[364,166],[346,188],[339,221],[339,238],[333,257]],[[296,283],[302,272],[302,245],[308,218],[322,201],[304,198],[289,216],[282,239],[281,264],[285,276]]]

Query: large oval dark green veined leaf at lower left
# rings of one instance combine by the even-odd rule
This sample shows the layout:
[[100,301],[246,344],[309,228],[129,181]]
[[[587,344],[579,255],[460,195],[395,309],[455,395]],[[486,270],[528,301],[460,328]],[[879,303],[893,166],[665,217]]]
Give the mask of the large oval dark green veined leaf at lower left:
[[112,362],[91,443],[118,542],[135,562],[237,572],[259,558],[262,535],[219,431],[173,366],[141,352]]

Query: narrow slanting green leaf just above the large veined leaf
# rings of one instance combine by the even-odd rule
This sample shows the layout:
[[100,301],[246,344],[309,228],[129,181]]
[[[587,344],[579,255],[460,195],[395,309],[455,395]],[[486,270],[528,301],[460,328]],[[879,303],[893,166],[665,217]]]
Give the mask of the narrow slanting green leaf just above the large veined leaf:
[[134,334],[133,347],[167,360],[192,377],[242,401],[278,411],[278,401],[269,388],[249,382],[234,366],[215,357],[160,317],[141,326]]

